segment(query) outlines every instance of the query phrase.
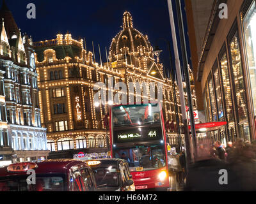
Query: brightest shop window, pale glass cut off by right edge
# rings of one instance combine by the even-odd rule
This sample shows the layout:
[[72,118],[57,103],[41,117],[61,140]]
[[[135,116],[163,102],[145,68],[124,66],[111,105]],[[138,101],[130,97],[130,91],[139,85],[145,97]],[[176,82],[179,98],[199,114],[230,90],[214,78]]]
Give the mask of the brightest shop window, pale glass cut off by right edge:
[[254,115],[256,115],[256,6],[254,1],[244,17],[243,26]]

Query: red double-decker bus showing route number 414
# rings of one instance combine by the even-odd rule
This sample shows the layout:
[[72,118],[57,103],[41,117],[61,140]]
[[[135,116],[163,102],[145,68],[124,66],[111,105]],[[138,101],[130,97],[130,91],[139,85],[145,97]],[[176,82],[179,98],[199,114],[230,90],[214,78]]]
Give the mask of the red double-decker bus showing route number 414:
[[114,105],[110,112],[111,156],[128,161],[136,190],[169,187],[161,107]]

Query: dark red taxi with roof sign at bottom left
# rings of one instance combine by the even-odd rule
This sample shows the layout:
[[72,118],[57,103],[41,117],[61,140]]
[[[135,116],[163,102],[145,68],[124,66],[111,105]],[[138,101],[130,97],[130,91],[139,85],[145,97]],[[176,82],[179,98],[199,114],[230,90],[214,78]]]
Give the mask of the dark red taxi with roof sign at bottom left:
[[48,159],[0,168],[0,191],[96,191],[93,171],[75,159]]

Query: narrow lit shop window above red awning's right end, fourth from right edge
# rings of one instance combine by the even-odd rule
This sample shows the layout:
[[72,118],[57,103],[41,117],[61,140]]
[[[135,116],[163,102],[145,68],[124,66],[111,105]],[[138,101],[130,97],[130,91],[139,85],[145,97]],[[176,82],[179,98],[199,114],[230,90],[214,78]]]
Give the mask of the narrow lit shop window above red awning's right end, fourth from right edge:
[[215,82],[216,99],[217,99],[217,106],[218,106],[218,118],[220,121],[223,121],[224,113],[223,113],[223,105],[222,105],[222,97],[221,97],[221,89],[220,89],[219,71],[217,67],[215,67],[213,77]]

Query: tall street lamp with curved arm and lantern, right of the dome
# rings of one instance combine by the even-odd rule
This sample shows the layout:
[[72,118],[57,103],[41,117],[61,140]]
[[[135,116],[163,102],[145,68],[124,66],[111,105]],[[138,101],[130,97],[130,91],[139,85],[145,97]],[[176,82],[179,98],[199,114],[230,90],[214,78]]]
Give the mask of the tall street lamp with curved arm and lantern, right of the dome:
[[[171,53],[171,45],[170,41],[164,39],[164,38],[159,38],[158,40],[164,40],[167,44],[168,47],[168,52],[169,52],[169,59],[170,59],[170,68],[171,68],[171,78],[172,78],[172,87],[173,87],[173,99],[174,99],[174,107],[175,107],[175,117],[176,117],[176,124],[177,124],[177,131],[178,131],[178,138],[179,138],[179,147],[180,150],[182,150],[182,142],[181,142],[181,136],[180,136],[180,122],[179,122],[179,112],[178,112],[178,106],[177,106],[177,98],[176,98],[176,91],[175,91],[175,72],[172,69],[172,53]],[[156,45],[154,47],[154,50],[152,52],[153,55],[156,55],[157,58],[159,57],[160,53],[163,52],[163,50],[160,50],[159,47]],[[168,71],[168,77],[169,77],[169,71]]]

